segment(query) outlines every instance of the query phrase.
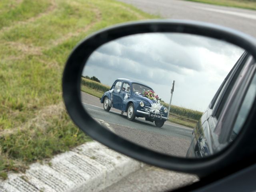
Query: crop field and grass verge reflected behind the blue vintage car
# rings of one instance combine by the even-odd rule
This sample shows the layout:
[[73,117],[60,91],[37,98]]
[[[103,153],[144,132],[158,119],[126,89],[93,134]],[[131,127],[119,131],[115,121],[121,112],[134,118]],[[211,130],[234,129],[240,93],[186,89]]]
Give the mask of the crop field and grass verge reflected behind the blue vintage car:
[[[85,81],[85,79],[83,79],[84,78],[82,78],[81,91],[101,98],[105,92],[103,91],[105,85],[92,80],[86,80],[89,83],[83,83],[83,81]],[[107,87],[107,90],[109,89],[110,87]],[[168,107],[167,103],[162,102],[162,105]],[[179,125],[194,128],[201,116],[202,112],[172,105],[170,109],[169,121]]]

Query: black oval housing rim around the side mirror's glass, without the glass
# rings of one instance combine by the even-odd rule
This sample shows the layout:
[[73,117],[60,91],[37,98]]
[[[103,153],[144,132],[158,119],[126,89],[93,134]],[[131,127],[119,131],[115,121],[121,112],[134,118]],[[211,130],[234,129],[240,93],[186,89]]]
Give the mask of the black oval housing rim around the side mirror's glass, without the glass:
[[213,24],[184,20],[150,20],[106,28],[82,40],[74,48],[66,62],[62,79],[63,98],[74,123],[95,140],[127,156],[154,166],[197,174],[200,177],[214,174],[218,170],[223,170],[226,172],[225,174],[228,174],[254,163],[255,160],[251,157],[256,152],[255,101],[242,131],[232,145],[213,156],[202,159],[168,156],[136,145],[104,129],[84,110],[80,98],[80,76],[84,64],[92,52],[102,44],[117,38],[154,32],[179,32],[224,40],[244,48],[256,58],[256,40],[254,38]]

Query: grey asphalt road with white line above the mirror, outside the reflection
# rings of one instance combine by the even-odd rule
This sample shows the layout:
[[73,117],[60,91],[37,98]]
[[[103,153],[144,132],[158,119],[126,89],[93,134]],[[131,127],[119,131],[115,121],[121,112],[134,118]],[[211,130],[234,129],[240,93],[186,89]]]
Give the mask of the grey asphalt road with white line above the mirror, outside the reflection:
[[256,37],[256,11],[182,0],[119,0],[163,18],[210,22]]

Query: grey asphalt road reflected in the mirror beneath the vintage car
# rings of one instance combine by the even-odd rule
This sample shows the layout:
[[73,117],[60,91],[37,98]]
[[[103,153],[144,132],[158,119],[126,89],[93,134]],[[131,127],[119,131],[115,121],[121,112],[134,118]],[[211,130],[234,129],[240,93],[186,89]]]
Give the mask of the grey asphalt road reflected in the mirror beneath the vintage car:
[[111,108],[106,112],[99,98],[84,92],[81,92],[81,96],[88,113],[115,134],[164,154],[186,155],[192,137],[191,128],[171,122],[165,122],[164,126],[158,128],[144,118],[129,121],[126,113],[121,115],[119,110]]

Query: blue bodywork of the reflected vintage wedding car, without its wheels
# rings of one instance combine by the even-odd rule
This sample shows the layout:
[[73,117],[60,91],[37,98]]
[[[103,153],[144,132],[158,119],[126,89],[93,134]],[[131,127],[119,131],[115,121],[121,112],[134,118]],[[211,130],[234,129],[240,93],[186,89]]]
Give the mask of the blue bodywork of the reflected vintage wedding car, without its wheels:
[[[100,102],[103,103],[104,99],[108,98],[110,100],[109,107],[116,108],[118,110],[121,110],[122,112],[127,112],[128,106],[130,104],[133,104],[136,117],[144,117],[147,121],[151,122],[165,122],[168,119],[168,112],[164,112],[165,107],[162,106],[159,114],[154,114],[150,112],[150,107],[153,103],[156,103],[156,101],[150,100],[149,98],[146,98],[142,95],[142,92],[145,91],[145,89],[139,90],[139,93],[137,91],[135,92],[134,84],[136,84],[137,86],[140,85],[141,88],[146,87],[150,90],[153,90],[152,88],[150,88],[150,86],[147,86],[142,82],[118,78],[113,83],[111,89],[103,94]],[[144,106],[141,106],[140,102],[144,102]]]

